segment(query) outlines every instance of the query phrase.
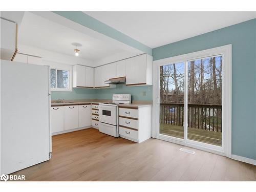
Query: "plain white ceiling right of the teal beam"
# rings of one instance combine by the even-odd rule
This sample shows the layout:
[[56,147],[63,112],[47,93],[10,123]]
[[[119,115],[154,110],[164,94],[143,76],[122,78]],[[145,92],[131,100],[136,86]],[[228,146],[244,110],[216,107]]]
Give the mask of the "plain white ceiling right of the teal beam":
[[256,18],[256,12],[86,11],[102,23],[155,48]]

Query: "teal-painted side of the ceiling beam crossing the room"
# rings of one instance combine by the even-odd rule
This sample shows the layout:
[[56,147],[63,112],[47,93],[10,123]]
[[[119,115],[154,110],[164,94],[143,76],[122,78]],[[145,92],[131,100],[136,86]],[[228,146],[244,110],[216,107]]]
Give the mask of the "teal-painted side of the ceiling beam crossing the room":
[[54,13],[68,18],[73,22],[76,22],[84,27],[90,28],[94,31],[102,33],[106,36],[109,36],[113,39],[119,40],[126,45],[134,47],[148,55],[152,55],[152,49],[147,47],[146,45],[142,44],[141,42],[117,31],[116,29],[100,22],[99,20],[91,17],[90,15],[83,13],[81,11],[53,11]]

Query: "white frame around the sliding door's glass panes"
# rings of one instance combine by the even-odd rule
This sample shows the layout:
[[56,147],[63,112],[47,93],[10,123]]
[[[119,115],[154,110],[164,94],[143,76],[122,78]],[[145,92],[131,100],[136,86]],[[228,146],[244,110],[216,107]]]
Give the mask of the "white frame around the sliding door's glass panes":
[[[188,60],[223,55],[223,84],[222,84],[222,146],[210,145],[198,141],[187,140],[187,117],[184,116],[184,139],[170,137],[159,133],[159,67],[170,63],[185,63],[185,102],[184,114],[187,112],[187,71]],[[231,158],[231,87],[232,87],[232,45],[225,45],[203,51],[164,58],[153,62],[153,118],[152,137],[177,144],[198,148],[199,150],[216,153]]]

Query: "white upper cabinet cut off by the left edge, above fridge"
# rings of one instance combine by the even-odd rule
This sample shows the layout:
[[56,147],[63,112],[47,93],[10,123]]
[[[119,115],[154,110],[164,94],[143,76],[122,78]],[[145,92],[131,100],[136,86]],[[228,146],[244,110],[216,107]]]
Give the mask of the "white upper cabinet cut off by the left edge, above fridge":
[[16,28],[15,23],[1,18],[1,59],[11,60],[17,51]]

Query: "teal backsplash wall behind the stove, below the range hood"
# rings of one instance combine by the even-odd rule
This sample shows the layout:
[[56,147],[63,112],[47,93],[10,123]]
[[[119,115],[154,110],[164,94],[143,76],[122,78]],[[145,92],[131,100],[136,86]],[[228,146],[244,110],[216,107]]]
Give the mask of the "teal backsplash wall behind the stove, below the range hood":
[[152,101],[152,86],[125,86],[117,84],[116,88],[97,89],[98,99],[112,99],[112,94],[131,94],[132,100]]

